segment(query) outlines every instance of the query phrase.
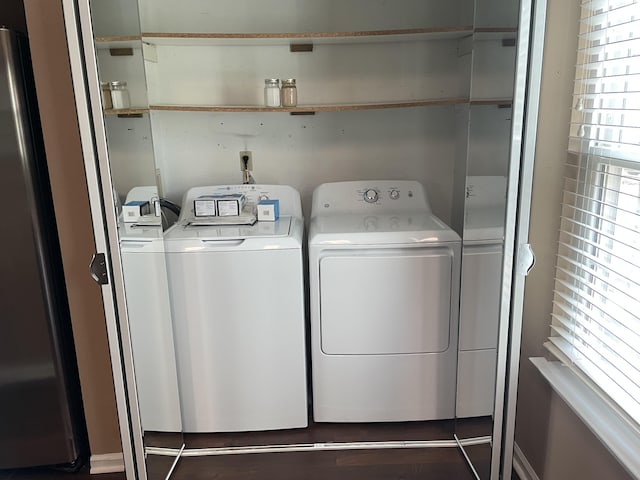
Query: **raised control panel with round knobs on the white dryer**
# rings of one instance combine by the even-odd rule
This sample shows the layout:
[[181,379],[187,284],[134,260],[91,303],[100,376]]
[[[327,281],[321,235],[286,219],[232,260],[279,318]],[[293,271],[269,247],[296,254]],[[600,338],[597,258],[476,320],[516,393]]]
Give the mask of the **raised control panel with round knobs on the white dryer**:
[[430,211],[424,188],[414,181],[336,182],[320,185],[313,194],[316,213],[423,210]]

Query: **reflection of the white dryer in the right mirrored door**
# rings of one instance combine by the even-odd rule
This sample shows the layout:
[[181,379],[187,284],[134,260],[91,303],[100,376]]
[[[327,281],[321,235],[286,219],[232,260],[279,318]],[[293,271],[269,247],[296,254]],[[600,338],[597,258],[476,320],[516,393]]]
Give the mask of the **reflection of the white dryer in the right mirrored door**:
[[467,177],[462,247],[457,417],[493,414],[506,177]]

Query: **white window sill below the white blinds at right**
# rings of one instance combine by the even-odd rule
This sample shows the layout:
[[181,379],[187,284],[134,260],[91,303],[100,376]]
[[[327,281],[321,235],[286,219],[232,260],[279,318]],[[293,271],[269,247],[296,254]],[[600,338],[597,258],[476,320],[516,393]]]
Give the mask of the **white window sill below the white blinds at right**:
[[529,359],[551,388],[635,478],[640,478],[640,434],[569,367],[543,357]]

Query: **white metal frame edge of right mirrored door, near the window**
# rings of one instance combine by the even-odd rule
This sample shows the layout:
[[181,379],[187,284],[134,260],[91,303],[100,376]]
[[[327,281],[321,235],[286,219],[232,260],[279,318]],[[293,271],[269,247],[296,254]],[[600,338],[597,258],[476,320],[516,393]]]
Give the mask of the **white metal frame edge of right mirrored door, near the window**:
[[509,278],[502,282],[491,480],[511,478],[513,465],[526,275],[517,271],[516,260],[529,237],[546,12],[547,0],[522,0],[520,5],[503,261],[503,275]]

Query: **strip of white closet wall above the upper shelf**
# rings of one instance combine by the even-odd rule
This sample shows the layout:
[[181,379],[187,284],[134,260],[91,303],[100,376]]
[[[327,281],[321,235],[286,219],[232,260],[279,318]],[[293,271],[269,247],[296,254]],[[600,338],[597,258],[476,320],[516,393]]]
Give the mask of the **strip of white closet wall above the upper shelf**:
[[178,9],[174,0],[140,3],[144,32],[339,32],[473,21],[468,0],[190,0]]

